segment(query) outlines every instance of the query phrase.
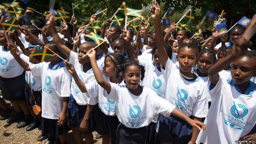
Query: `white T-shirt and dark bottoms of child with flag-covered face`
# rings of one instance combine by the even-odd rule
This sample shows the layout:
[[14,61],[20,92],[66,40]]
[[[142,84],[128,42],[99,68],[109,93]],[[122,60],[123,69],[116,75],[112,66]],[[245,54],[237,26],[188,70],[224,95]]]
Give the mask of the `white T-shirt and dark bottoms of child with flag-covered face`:
[[52,66],[51,62],[29,65],[32,76],[42,79],[42,136],[65,135],[70,128],[65,122],[57,125],[63,108],[63,97],[70,96],[70,76],[63,61]]

